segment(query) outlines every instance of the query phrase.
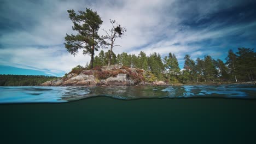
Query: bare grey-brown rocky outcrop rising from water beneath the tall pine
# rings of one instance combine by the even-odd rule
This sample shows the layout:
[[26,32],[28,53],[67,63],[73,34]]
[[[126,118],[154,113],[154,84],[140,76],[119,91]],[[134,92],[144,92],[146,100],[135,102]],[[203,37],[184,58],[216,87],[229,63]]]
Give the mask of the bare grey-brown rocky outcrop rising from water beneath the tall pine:
[[41,86],[135,86],[167,85],[150,77],[149,71],[127,68],[115,64],[110,67],[96,67],[83,70],[79,74],[69,73],[59,79],[46,81]]

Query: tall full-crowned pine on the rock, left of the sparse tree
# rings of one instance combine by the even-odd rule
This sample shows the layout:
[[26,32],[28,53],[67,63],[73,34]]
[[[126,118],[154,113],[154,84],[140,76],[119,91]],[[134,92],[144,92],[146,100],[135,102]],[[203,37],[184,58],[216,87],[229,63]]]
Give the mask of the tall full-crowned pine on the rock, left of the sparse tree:
[[83,49],[84,55],[91,55],[90,66],[93,68],[94,52],[98,50],[98,44],[102,40],[98,35],[98,29],[102,24],[101,17],[96,11],[88,8],[85,11],[78,11],[79,14],[76,14],[73,9],[67,11],[74,25],[72,28],[78,34],[66,34],[65,47],[74,56],[79,49]]

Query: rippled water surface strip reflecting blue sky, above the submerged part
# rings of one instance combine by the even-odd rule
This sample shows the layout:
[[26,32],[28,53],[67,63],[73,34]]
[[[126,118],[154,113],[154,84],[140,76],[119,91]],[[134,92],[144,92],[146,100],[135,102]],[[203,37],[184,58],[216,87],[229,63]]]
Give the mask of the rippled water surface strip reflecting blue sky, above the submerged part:
[[62,103],[89,97],[256,99],[255,85],[134,87],[0,87],[0,103]]

